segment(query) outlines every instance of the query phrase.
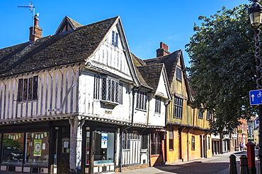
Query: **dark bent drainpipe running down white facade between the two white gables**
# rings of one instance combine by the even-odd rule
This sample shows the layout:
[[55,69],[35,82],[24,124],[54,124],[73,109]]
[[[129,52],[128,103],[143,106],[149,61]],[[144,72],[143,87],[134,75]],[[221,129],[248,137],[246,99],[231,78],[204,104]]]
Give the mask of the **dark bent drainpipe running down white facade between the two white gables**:
[[120,130],[120,160],[119,160],[119,163],[120,163],[120,168],[119,168],[119,172],[122,172],[122,151],[123,151],[123,132],[124,130],[127,130],[129,128],[131,128],[133,125],[134,125],[134,114],[135,114],[135,91],[137,89],[140,88],[140,85],[139,87],[133,87],[132,88],[132,113],[131,113],[131,125],[130,126],[127,126],[125,128],[121,128]]

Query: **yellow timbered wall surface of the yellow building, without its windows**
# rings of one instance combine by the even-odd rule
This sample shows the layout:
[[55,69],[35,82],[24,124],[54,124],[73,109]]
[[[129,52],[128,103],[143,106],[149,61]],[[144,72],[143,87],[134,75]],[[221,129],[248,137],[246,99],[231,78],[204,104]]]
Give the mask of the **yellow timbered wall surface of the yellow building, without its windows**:
[[[178,61],[178,67],[181,67],[181,61]],[[182,118],[173,118],[173,101],[168,109],[168,126],[166,134],[166,159],[167,163],[178,163],[200,159],[204,156],[212,156],[212,139],[207,133],[209,122],[207,120],[207,111],[203,113],[203,118],[198,118],[198,108],[192,108],[188,104],[189,95],[186,81],[182,77],[181,81],[173,77],[171,92],[174,97],[183,99]],[[171,127],[171,129],[170,129]],[[173,130],[173,149],[169,149],[169,130]],[[181,137],[179,131],[181,131]],[[195,137],[195,149],[192,149],[192,137]],[[209,143],[207,142],[209,139]],[[179,142],[181,140],[181,142]],[[181,148],[181,150],[179,149]],[[181,154],[181,155],[180,155]]]

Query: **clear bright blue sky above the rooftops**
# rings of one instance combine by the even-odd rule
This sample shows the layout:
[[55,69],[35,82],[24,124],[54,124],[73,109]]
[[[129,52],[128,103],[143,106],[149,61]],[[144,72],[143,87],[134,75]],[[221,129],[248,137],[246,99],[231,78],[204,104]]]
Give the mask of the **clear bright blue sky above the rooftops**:
[[[130,46],[139,58],[156,56],[159,43],[169,46],[169,51],[183,50],[186,66],[190,66],[185,45],[193,36],[193,23],[199,24],[199,15],[210,16],[222,6],[232,9],[248,0],[32,0],[35,12],[40,13],[42,36],[54,35],[65,15],[88,25],[99,20],[120,15]],[[0,49],[28,42],[29,27],[33,25],[28,8],[29,1],[0,0]]]

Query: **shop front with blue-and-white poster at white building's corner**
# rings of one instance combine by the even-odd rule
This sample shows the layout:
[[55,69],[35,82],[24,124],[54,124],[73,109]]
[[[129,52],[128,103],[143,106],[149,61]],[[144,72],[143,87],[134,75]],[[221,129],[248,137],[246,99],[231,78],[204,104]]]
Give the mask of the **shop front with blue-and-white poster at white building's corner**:
[[118,161],[115,141],[118,139],[118,128],[101,125],[83,127],[83,161],[82,173],[111,173],[115,171]]

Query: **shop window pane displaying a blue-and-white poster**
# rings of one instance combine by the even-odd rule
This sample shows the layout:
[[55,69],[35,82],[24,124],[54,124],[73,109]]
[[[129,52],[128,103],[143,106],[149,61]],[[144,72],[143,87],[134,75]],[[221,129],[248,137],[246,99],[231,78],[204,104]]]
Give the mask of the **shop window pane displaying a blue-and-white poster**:
[[95,155],[93,164],[113,163],[115,134],[111,132],[96,132]]

